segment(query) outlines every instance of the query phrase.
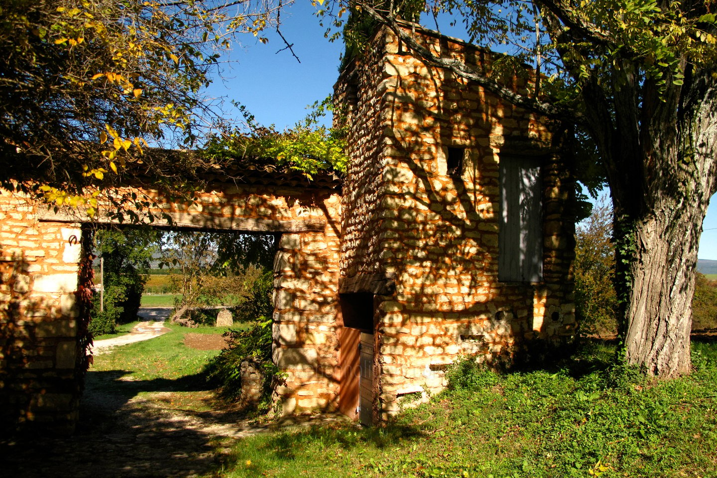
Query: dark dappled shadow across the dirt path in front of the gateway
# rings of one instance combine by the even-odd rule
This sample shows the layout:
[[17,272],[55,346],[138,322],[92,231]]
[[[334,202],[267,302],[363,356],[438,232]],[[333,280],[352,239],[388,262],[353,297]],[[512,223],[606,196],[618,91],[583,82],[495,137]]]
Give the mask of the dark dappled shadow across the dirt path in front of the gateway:
[[[75,435],[26,436],[0,443],[0,455],[6,455],[3,472],[30,478],[189,477],[222,467],[228,456],[221,446],[222,426],[236,424],[240,414],[188,413],[170,399],[138,396],[206,391],[203,377],[130,381],[125,380],[127,373],[88,374]],[[207,405],[210,400],[210,395],[204,398]]]

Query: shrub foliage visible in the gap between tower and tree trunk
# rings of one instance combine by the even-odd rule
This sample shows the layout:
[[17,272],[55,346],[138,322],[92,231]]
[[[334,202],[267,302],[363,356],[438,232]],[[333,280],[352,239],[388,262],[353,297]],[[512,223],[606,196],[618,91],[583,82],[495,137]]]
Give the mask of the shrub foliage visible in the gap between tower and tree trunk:
[[599,201],[575,230],[575,306],[583,334],[617,333],[612,208]]

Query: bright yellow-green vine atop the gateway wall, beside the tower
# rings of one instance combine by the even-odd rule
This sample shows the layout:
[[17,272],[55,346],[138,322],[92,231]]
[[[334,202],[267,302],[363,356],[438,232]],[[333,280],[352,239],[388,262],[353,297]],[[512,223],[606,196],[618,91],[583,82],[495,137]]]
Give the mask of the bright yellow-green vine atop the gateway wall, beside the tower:
[[313,105],[314,112],[305,120],[282,132],[273,125],[256,123],[253,115],[239,107],[247,122],[249,133],[227,130],[212,135],[201,155],[218,163],[297,170],[309,178],[319,172],[346,171],[346,141],[343,131],[319,125],[318,119],[326,110],[333,110],[331,99]]

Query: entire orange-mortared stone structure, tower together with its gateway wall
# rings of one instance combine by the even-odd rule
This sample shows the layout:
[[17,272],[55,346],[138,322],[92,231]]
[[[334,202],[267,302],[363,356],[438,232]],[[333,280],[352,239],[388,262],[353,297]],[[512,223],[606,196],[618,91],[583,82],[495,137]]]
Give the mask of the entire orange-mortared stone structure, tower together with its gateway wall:
[[[492,67],[495,54],[416,32],[437,54]],[[343,184],[244,173],[209,181],[191,204],[141,191],[183,227],[281,234],[283,413],[373,423],[440,391],[462,355],[509,364],[571,335],[574,183],[553,126],[427,66],[386,29],[336,95]],[[86,363],[82,222],[0,192],[0,420],[71,429]]]

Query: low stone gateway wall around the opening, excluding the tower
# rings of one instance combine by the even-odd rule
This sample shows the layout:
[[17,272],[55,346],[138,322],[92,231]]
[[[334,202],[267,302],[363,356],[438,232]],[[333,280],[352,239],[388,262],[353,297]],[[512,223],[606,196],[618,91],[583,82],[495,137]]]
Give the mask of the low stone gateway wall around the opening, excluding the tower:
[[[171,216],[176,226],[282,234],[274,357],[287,379],[277,398],[287,413],[332,409],[338,393],[338,191],[212,183],[187,203],[158,191],[124,192],[151,198],[152,209]],[[116,219],[100,211],[97,220]],[[0,191],[0,421],[8,429],[70,431],[77,420],[79,221],[77,211],[48,211]],[[161,218],[152,224],[168,226]]]

